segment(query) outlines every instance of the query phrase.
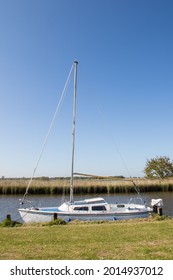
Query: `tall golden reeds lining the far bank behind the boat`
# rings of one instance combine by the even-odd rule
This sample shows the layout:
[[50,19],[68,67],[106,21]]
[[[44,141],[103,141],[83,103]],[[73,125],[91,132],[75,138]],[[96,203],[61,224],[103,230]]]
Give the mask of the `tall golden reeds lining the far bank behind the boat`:
[[[29,183],[28,178],[0,179],[0,195],[24,194]],[[149,180],[144,178],[133,178],[133,182],[142,192],[173,191],[173,178],[164,180]],[[97,193],[132,193],[136,192],[134,184],[129,178],[124,179],[75,179],[75,194],[97,194]],[[69,178],[41,177],[33,179],[29,188],[30,194],[69,194]]]

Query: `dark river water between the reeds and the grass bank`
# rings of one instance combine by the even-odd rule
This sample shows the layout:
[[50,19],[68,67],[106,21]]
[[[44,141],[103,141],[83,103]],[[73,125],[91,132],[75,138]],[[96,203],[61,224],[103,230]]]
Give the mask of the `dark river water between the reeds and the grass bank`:
[[[137,198],[137,195],[132,194],[104,194],[104,195],[84,195],[75,196],[75,200],[92,198],[96,196],[103,197],[109,203],[125,203],[129,201],[129,198]],[[0,221],[4,220],[7,214],[11,215],[12,220],[20,220],[18,208],[20,208],[21,196],[17,195],[0,195]],[[142,199],[150,204],[152,198],[163,199],[163,215],[173,216],[173,192],[151,192],[142,193]],[[66,198],[68,200],[68,197]],[[28,196],[26,200],[32,200],[32,206],[44,207],[44,206],[59,206],[63,201],[61,196],[46,196],[46,195],[32,195]],[[139,202],[139,201],[138,201]],[[23,207],[23,206],[22,206]],[[25,203],[24,207],[28,207]]]

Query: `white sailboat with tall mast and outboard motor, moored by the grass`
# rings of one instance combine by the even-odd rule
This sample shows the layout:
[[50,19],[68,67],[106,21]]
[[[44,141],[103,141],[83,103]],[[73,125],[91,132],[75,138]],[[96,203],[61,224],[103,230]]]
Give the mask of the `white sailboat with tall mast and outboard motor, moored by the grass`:
[[[70,180],[70,199],[55,207],[29,207],[20,208],[21,218],[26,223],[32,222],[50,222],[55,219],[65,221],[83,220],[126,220],[134,218],[146,218],[153,212],[153,207],[163,205],[162,199],[152,200],[152,206],[146,206],[141,199],[141,203],[129,201],[129,203],[110,204],[102,197],[88,198],[75,201],[73,197],[74,190],[74,148],[75,148],[75,125],[76,125],[76,91],[77,91],[77,65],[74,61],[74,107],[73,107],[73,125],[72,125],[72,165]],[[27,192],[25,193],[27,194]],[[23,204],[23,200],[22,203]]]

